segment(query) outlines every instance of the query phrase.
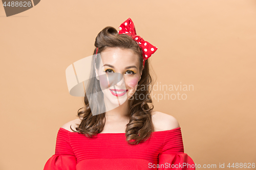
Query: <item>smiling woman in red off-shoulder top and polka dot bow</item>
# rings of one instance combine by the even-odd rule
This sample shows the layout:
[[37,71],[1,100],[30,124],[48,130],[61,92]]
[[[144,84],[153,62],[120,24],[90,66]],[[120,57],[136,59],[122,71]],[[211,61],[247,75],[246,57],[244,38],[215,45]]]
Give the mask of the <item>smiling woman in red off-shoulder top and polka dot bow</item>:
[[195,169],[177,120],[153,111],[147,59],[157,47],[136,35],[131,18],[119,29],[96,37],[84,110],[59,129],[44,170]]

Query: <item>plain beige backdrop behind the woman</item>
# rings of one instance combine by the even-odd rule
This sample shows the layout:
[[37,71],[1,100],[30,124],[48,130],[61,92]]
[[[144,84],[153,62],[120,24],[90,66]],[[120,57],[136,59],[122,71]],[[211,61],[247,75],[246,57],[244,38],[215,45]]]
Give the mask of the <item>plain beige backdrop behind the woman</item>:
[[256,163],[255,1],[41,1],[10,17],[1,6],[0,16],[0,169],[44,168],[58,129],[82,107],[66,68],[92,55],[104,27],[129,17],[159,48],[151,58],[158,84],[194,85],[165,91],[186,100],[154,99],[155,110],[178,119],[185,153],[215,169]]

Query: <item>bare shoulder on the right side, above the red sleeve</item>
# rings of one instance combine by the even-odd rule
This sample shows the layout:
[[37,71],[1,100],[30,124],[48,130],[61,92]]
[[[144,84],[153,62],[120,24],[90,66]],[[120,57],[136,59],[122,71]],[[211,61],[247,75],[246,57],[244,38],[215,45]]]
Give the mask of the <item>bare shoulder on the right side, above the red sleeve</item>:
[[159,111],[152,111],[152,122],[155,131],[172,130],[180,127],[174,116]]

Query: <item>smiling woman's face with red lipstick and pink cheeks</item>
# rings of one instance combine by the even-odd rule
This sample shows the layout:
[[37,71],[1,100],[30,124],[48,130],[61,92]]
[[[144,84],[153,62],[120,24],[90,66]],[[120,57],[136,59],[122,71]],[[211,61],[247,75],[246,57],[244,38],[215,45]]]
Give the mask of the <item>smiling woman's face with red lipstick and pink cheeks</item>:
[[104,98],[120,106],[136,92],[141,77],[139,56],[131,49],[119,47],[108,47],[100,56],[102,62],[96,69],[96,76],[99,76]]

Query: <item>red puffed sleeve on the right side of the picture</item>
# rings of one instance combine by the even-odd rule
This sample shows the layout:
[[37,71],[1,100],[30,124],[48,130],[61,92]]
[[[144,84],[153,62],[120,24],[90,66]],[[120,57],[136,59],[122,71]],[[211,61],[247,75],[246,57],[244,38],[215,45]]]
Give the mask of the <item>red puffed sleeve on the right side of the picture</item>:
[[159,170],[196,169],[194,161],[184,153],[181,128],[170,130],[164,139],[163,148],[158,157]]

